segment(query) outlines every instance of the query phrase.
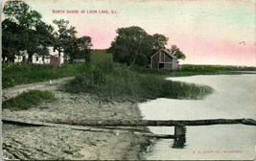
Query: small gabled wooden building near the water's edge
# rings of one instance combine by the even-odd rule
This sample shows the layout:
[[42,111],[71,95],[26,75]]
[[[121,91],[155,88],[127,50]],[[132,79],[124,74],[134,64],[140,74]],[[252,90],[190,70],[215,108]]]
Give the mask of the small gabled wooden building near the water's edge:
[[177,58],[167,49],[161,49],[151,56],[151,68],[176,70]]

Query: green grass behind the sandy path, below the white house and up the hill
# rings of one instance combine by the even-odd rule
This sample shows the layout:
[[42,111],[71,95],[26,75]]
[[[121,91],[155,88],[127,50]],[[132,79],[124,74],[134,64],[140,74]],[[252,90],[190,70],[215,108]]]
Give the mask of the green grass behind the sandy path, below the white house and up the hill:
[[[111,60],[111,55],[105,53],[105,50],[92,51],[92,64],[106,60]],[[2,65],[2,84],[3,88],[8,88],[20,84],[72,77],[88,71],[89,68],[90,64],[88,63],[62,64],[61,67],[41,64],[8,63]]]

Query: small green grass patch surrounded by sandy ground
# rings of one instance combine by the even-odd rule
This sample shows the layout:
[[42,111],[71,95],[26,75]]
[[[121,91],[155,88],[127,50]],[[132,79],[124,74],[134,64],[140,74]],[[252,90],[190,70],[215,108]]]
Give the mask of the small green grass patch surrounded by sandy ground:
[[31,90],[29,92],[23,92],[12,99],[4,101],[2,107],[14,110],[24,110],[41,104],[44,101],[54,100],[56,100],[56,98],[52,92]]

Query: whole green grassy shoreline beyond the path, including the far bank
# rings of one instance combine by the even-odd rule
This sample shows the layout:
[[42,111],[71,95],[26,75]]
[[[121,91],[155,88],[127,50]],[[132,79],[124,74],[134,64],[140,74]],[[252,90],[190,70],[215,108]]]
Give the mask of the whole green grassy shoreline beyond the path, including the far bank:
[[[255,67],[223,65],[182,65],[175,77],[235,74],[234,71],[255,71]],[[237,74],[237,73],[236,73]],[[197,86],[176,81],[165,81],[169,70],[153,70],[126,66],[112,62],[105,50],[92,50],[91,63],[64,64],[60,68],[50,65],[3,64],[3,87],[36,81],[49,81],[77,76],[65,89],[70,92],[87,92],[106,97],[133,97],[154,99],[198,99],[212,92],[208,86]]]

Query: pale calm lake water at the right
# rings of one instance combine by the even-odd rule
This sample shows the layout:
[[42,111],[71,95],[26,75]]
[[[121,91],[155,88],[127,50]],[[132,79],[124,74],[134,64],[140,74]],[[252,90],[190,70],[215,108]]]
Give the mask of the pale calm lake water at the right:
[[[256,75],[216,75],[170,78],[207,84],[214,93],[203,100],[157,99],[139,104],[145,120],[199,120],[256,118]],[[185,127],[184,138],[158,139],[146,159],[253,159],[256,127],[216,125]],[[175,127],[150,127],[153,133],[174,134]]]

